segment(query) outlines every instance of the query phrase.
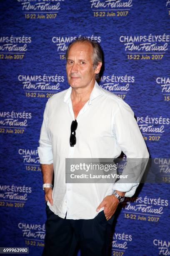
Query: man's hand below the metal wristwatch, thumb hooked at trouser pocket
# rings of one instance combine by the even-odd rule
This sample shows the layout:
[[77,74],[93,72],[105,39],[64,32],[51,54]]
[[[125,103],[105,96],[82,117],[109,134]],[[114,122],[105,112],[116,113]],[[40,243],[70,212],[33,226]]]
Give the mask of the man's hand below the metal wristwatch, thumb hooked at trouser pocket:
[[117,209],[117,206],[119,204],[119,200],[114,196],[110,195],[105,197],[100,205],[97,207],[96,211],[98,212],[100,208],[104,208],[105,217],[107,220],[112,218],[112,215],[115,213],[115,210]]

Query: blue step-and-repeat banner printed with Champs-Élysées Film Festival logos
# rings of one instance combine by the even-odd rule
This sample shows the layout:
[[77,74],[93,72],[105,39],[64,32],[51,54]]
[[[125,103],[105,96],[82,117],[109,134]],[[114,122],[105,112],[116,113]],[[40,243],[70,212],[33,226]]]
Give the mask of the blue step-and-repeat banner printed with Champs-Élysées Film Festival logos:
[[47,100],[69,87],[65,52],[78,36],[102,46],[99,84],[131,106],[161,177],[118,208],[112,255],[170,255],[170,0],[0,1],[0,246],[42,253],[37,146]]

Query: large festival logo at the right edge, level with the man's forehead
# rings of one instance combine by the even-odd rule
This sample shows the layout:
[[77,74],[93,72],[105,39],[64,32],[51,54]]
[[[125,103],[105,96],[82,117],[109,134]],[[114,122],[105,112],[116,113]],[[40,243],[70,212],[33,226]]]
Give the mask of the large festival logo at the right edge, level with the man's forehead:
[[119,39],[129,60],[161,60],[168,51],[170,35],[122,35]]

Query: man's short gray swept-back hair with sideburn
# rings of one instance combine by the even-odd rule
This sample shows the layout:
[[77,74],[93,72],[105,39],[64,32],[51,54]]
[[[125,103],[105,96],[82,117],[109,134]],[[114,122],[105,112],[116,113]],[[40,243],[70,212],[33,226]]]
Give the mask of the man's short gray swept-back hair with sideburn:
[[[102,53],[102,48],[100,46],[100,44],[95,41],[95,40],[91,40],[85,36],[81,36],[81,37],[77,37],[75,38],[74,41],[72,41],[68,48],[67,48],[67,51],[66,51],[66,54],[65,54],[65,57],[67,59],[68,57],[68,53],[69,53],[69,50],[70,50],[70,47],[77,43],[77,42],[80,42],[80,43],[90,43],[92,48],[93,48],[93,55],[92,55],[92,61],[93,61],[93,68],[95,69],[97,67],[97,64],[99,62],[102,62],[102,59],[103,59],[103,53]],[[95,74],[95,78],[96,80],[98,81],[100,79],[100,76],[99,74]]]

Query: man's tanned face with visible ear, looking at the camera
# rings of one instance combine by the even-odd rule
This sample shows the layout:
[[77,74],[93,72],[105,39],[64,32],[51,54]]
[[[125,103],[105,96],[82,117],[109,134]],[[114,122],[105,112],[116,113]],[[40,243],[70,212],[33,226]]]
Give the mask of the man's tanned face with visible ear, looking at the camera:
[[95,82],[98,69],[93,68],[93,48],[88,42],[77,42],[70,47],[67,56],[67,80],[72,88],[83,88]]

